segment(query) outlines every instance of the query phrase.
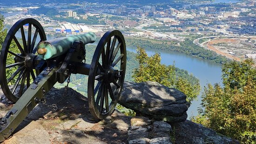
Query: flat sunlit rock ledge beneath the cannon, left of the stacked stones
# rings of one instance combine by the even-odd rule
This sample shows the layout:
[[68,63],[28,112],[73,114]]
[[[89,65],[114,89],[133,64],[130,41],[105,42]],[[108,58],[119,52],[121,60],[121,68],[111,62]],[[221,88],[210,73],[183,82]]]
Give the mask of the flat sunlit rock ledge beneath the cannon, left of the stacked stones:
[[[115,111],[98,121],[89,111],[88,99],[68,88],[67,96],[57,104],[64,88],[52,88],[46,105],[40,103],[3,144],[125,144],[131,117]],[[13,106],[0,90],[0,117]],[[109,121],[110,120],[110,121]]]

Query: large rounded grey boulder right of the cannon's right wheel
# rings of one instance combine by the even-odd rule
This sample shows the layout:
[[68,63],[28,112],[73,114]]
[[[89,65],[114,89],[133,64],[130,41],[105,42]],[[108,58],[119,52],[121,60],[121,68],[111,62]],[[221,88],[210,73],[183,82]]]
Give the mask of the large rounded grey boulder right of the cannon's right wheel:
[[177,123],[188,117],[186,98],[177,89],[157,82],[125,82],[118,103],[142,116]]

